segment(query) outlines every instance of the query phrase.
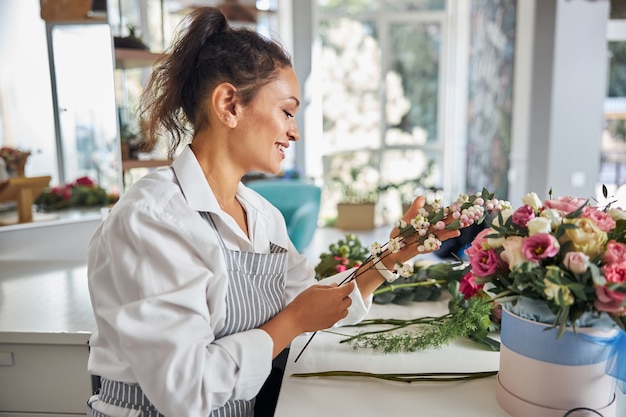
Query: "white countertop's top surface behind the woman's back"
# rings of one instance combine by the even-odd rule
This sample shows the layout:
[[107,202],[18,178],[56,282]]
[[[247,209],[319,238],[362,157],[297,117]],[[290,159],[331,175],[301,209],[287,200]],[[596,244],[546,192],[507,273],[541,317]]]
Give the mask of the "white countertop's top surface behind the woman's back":
[[86,343],[95,329],[82,261],[0,261],[0,343]]

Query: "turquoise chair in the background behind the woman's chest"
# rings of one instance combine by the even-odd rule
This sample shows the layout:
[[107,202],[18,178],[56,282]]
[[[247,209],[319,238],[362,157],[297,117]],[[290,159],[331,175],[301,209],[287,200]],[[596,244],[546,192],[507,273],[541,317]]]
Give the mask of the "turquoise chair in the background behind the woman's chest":
[[320,187],[298,179],[253,180],[246,185],[280,210],[287,233],[298,251],[311,243],[320,212]]

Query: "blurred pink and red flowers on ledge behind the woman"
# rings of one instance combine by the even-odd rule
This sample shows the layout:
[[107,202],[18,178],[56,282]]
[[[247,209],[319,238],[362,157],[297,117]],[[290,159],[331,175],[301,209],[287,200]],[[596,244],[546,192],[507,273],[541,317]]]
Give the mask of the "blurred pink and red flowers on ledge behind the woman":
[[117,196],[109,195],[91,178],[81,177],[74,182],[48,188],[34,203],[40,210],[53,211],[68,207],[107,206],[116,200]]

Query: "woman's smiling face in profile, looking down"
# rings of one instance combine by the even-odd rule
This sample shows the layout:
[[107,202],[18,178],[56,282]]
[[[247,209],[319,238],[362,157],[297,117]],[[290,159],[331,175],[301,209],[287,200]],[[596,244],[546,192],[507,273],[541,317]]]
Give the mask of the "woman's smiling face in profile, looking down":
[[278,70],[278,77],[264,85],[255,99],[241,109],[231,141],[247,172],[276,174],[290,141],[300,138],[295,115],[300,106],[300,83],[293,68]]

